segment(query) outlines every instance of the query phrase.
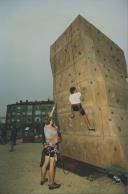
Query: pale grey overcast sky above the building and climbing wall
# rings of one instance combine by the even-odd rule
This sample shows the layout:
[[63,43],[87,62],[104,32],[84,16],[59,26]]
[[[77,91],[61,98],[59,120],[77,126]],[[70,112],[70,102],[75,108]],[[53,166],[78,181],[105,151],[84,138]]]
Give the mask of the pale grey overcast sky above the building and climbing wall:
[[7,104],[53,98],[50,45],[79,14],[128,64],[128,0],[0,0],[0,116]]

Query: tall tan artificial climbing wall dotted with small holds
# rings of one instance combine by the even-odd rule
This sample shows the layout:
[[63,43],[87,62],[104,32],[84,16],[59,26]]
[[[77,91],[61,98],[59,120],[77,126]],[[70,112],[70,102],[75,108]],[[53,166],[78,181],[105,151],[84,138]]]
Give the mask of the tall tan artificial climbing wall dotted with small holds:
[[[53,94],[67,157],[95,166],[128,165],[128,83],[123,51],[78,16],[50,48]],[[69,89],[81,92],[84,117],[70,119]]]

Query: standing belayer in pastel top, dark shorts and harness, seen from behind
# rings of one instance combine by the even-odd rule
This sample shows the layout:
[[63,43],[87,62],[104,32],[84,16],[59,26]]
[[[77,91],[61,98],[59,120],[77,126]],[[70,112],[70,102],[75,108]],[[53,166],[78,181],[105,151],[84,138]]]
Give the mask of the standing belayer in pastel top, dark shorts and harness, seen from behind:
[[[57,161],[57,153],[58,153],[58,141],[59,136],[57,133],[57,128],[53,127],[53,121],[51,119],[47,119],[45,121],[44,126],[44,148],[42,151],[42,157],[44,156],[44,163],[40,165],[41,167],[41,181],[40,184],[43,185],[45,182],[49,181],[48,187],[49,189],[57,189],[61,185],[55,183],[55,174],[56,174],[56,161]],[[48,172],[49,178],[46,177],[46,173]]]

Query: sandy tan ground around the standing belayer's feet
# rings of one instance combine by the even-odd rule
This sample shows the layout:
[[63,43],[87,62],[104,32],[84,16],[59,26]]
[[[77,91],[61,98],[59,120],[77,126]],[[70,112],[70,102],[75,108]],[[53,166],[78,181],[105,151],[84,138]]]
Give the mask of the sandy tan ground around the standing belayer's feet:
[[57,169],[56,182],[62,186],[49,190],[47,183],[40,182],[39,143],[18,142],[15,151],[9,152],[9,145],[0,145],[0,194],[128,194],[128,187],[114,184],[103,176],[90,182],[86,177],[73,173],[64,174]]

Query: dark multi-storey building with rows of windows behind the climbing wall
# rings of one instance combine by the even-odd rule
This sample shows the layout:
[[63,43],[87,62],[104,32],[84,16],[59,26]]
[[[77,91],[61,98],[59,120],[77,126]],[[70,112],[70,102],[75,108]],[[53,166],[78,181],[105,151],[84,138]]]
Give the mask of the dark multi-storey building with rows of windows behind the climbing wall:
[[22,134],[25,127],[38,128],[48,116],[53,107],[53,101],[20,101],[7,105],[6,128],[10,130],[13,125]]

